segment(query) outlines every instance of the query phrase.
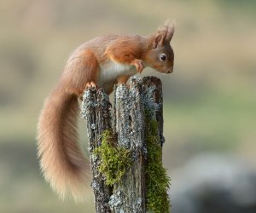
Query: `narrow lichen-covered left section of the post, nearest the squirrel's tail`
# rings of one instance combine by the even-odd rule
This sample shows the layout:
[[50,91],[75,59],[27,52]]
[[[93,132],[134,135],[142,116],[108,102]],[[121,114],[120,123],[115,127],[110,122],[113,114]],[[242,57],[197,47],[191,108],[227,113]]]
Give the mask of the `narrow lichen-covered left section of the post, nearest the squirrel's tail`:
[[87,123],[88,150],[92,170],[91,187],[95,194],[97,213],[111,212],[108,205],[111,189],[106,185],[105,177],[98,170],[100,158],[94,154],[94,150],[101,147],[102,132],[111,129],[110,107],[108,95],[102,89],[97,91],[96,89],[86,89],[84,91],[81,114]]

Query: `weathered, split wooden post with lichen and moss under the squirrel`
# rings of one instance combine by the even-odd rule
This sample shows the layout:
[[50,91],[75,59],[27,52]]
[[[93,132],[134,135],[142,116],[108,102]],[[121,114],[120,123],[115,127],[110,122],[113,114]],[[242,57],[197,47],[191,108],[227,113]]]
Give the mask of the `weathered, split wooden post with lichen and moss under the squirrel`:
[[169,178],[162,166],[163,104],[159,78],[132,78],[108,95],[84,92],[96,212],[170,212]]

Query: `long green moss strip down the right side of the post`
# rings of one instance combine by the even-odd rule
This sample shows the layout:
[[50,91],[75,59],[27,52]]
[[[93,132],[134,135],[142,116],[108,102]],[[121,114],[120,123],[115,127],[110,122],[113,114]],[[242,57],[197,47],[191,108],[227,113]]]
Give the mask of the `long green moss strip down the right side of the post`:
[[148,212],[170,212],[171,204],[167,194],[170,178],[162,164],[162,148],[158,123],[146,112],[146,146],[147,158],[145,164],[146,176],[146,208]]

